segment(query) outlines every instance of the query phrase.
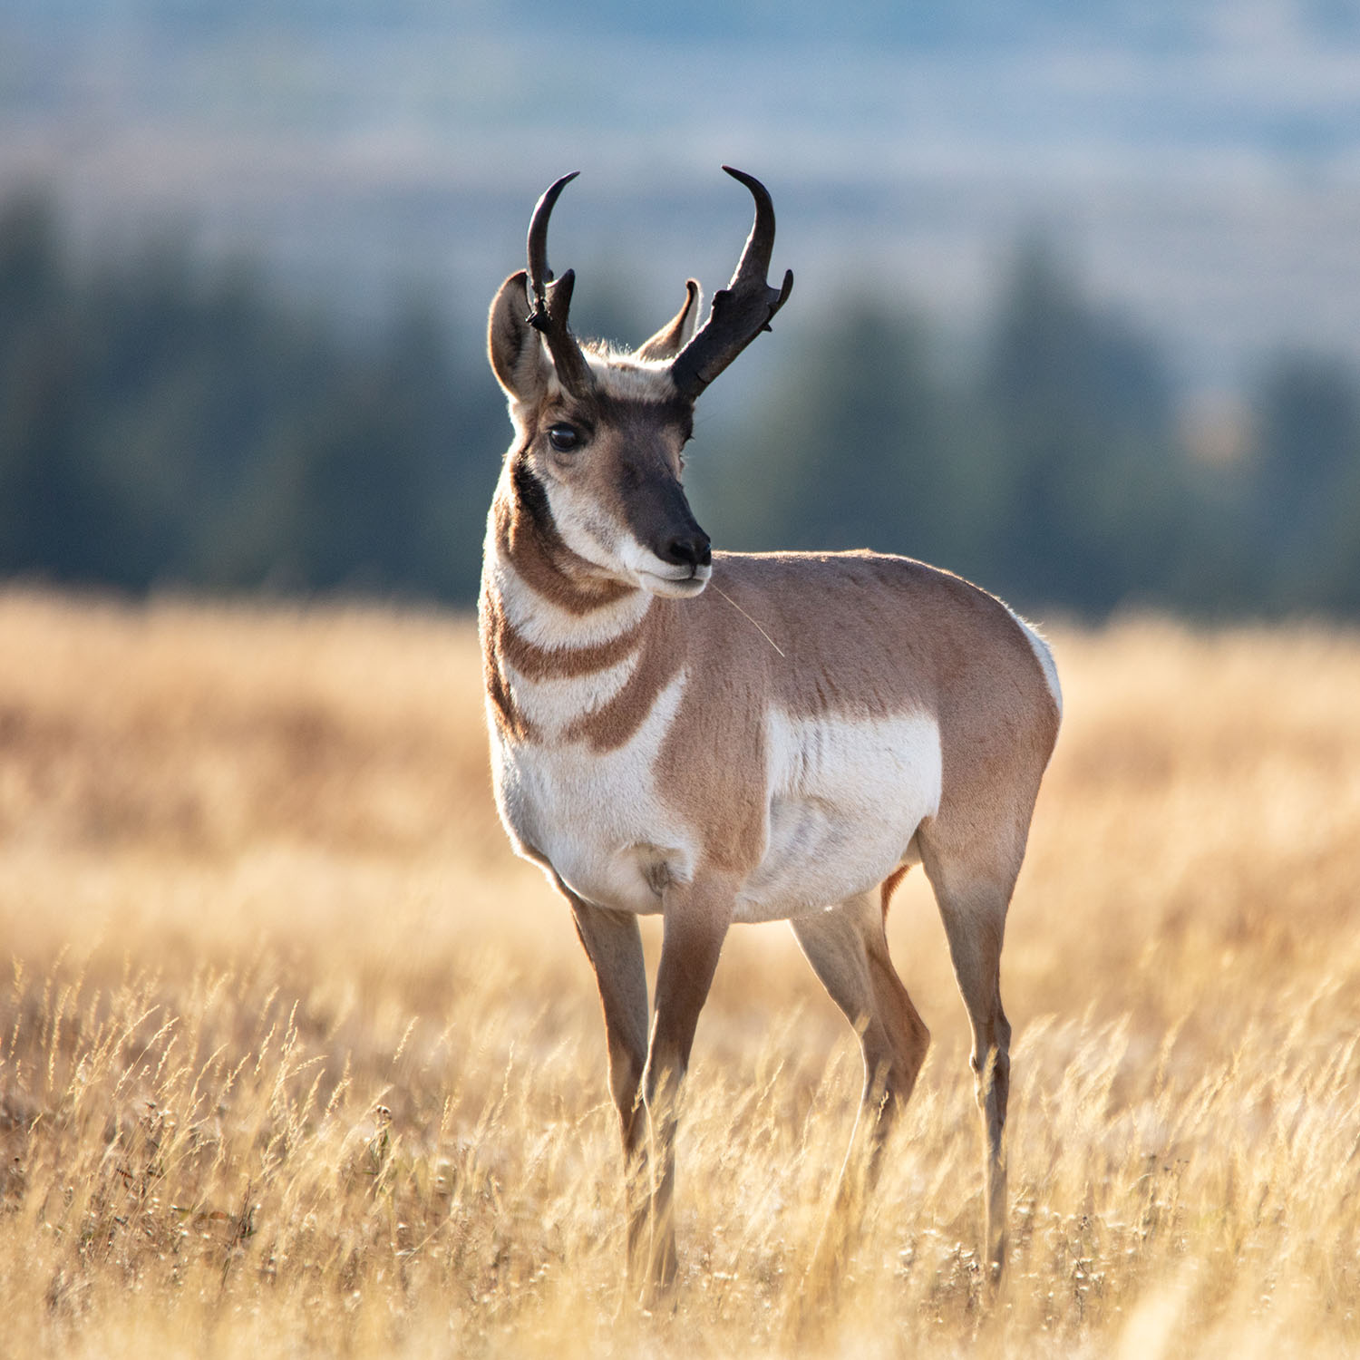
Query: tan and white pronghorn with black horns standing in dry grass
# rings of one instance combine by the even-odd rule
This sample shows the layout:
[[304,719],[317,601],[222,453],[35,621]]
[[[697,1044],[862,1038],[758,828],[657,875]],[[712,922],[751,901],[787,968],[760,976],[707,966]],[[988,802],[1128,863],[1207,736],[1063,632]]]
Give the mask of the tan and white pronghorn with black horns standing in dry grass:
[[[725,167],[726,169],[726,167]],[[487,526],[480,630],[496,802],[571,906],[623,1130],[630,1276],[676,1270],[676,1096],[732,922],[787,921],[860,1032],[846,1186],[872,1185],[929,1034],[888,957],[888,899],[925,866],[972,1028],[986,1250],[1005,1251],[1006,906],[1061,696],[1047,646],[948,571],[874,552],[710,552],[680,484],[700,392],[793,287],[766,275],[764,186],[702,326],[581,344],[539,200],[529,269],[491,305],[514,439]],[[847,450],[851,456],[853,450]],[[638,917],[662,918],[649,1024]],[[853,1172],[853,1175],[851,1175]]]

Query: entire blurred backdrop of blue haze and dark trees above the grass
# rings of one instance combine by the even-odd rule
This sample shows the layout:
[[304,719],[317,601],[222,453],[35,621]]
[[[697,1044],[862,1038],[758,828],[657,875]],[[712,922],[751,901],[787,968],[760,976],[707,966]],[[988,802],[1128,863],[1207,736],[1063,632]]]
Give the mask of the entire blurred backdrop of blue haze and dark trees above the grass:
[[728,548],[1360,616],[1355,0],[7,0],[0,573],[472,602],[543,188],[636,343],[770,186]]

